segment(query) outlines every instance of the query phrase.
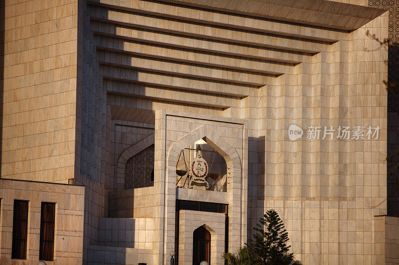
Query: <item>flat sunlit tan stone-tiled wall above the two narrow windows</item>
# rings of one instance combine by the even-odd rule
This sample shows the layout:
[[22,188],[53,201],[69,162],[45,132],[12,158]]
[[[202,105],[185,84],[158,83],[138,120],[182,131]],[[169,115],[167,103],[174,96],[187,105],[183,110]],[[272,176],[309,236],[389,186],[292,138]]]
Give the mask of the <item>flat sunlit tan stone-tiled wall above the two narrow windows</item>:
[[3,1],[1,6],[1,177],[67,183],[80,149],[78,0]]

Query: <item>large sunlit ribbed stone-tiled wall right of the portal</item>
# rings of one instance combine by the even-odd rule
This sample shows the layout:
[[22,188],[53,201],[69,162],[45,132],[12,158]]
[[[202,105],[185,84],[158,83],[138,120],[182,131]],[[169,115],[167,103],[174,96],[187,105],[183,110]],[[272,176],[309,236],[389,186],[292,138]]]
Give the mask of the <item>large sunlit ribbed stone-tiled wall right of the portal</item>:
[[[304,264],[372,263],[374,215],[387,212],[387,51],[366,32],[384,38],[387,24],[386,13],[259,89],[258,200],[248,228],[278,208]],[[288,139],[291,124],[304,130],[301,140]],[[306,139],[309,126],[339,125],[381,129],[377,140],[338,140],[337,131]]]

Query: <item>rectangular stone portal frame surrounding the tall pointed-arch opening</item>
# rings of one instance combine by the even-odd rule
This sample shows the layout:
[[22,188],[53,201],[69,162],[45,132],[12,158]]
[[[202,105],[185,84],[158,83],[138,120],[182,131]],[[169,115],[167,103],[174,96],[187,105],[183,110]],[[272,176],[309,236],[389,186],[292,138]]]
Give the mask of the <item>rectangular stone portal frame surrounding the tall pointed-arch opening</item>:
[[173,231],[178,156],[181,150],[204,137],[227,164],[228,251],[234,252],[246,242],[247,123],[240,119],[215,117],[211,120],[210,117],[179,111],[156,111],[155,157],[158,159],[155,164],[154,200],[159,205],[155,215],[160,222],[158,233],[163,235],[154,248],[154,254],[157,255],[155,261],[158,263],[161,263],[161,257],[167,263],[169,259],[162,254],[169,253],[175,247]]

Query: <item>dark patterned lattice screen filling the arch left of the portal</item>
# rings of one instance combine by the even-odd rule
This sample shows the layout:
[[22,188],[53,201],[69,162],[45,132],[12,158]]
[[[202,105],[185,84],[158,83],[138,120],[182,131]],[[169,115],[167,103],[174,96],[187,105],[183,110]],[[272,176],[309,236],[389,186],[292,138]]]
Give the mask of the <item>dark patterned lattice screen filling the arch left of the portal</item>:
[[154,185],[151,175],[154,172],[154,145],[134,155],[126,162],[125,189]]

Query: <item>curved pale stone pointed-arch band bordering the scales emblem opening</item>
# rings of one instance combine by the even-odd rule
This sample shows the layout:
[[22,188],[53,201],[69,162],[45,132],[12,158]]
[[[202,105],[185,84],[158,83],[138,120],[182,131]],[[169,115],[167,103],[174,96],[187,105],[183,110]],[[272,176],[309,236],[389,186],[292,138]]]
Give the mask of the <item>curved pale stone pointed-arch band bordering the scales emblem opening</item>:
[[[217,128],[216,128],[217,129]],[[243,197],[246,196],[247,185],[246,178],[243,179],[241,158],[235,148],[229,145],[222,137],[220,131],[216,133],[210,125],[202,125],[195,131],[175,141],[166,156],[165,165],[165,186],[161,186],[165,190],[163,196],[164,210],[163,212],[163,258],[167,263],[167,254],[175,251],[174,242],[175,235],[172,228],[175,227],[175,210],[176,210],[176,165],[178,157],[184,148],[198,139],[206,139],[214,150],[223,156],[227,165],[227,194],[228,194],[228,216],[229,223],[234,223],[234,228],[228,234],[228,251],[243,246],[246,239],[246,222],[242,216],[246,216],[246,205]],[[226,138],[228,139],[228,138]],[[236,139],[232,139],[236,141]],[[211,191],[209,191],[211,192]],[[208,214],[208,213],[207,213]]]

